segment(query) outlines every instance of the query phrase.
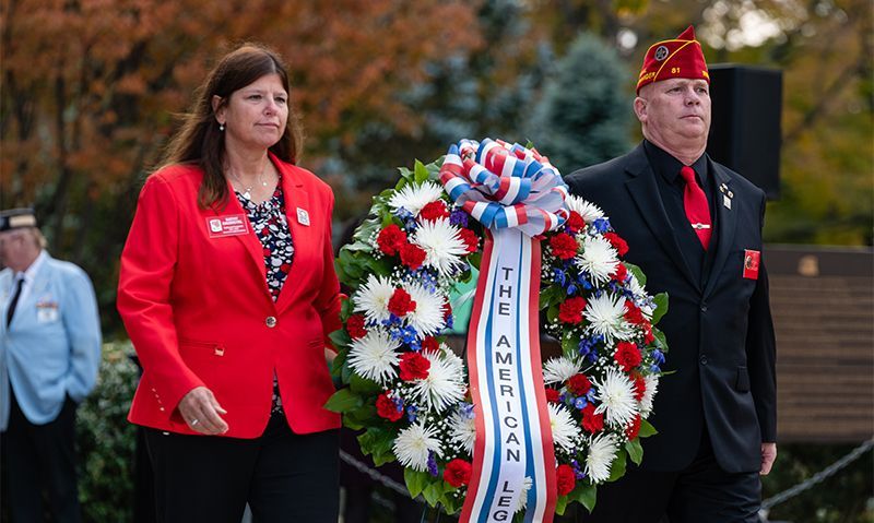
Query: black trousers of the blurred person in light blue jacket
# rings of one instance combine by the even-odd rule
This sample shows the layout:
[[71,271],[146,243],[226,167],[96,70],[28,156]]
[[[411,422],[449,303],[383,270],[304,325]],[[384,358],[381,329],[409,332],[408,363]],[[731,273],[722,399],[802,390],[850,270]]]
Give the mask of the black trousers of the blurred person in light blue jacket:
[[14,392],[10,400],[9,426],[0,445],[5,462],[2,474],[8,499],[4,501],[12,521],[45,521],[45,492],[52,521],[81,522],[75,476],[75,402],[68,396],[55,420],[34,425],[24,417]]

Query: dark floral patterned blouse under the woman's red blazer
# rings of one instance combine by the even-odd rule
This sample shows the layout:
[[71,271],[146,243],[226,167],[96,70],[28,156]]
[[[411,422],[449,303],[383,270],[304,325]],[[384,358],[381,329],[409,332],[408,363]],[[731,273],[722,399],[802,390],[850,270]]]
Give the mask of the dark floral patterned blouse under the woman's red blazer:
[[[267,268],[267,286],[275,302],[280,290],[292,270],[294,261],[294,241],[288,221],[285,216],[285,198],[282,193],[282,176],[276,182],[276,189],[269,200],[255,203],[244,197],[239,191],[234,191],[243,210],[249,217],[252,230],[261,240]],[[282,413],[282,399],[276,375],[273,375],[273,406],[272,413]]]

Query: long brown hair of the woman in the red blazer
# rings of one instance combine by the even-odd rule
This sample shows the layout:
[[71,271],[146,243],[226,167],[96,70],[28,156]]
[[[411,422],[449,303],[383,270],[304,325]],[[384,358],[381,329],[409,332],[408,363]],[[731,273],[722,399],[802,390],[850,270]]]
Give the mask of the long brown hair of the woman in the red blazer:
[[[228,199],[223,169],[224,132],[218,130],[212,108],[213,96],[220,96],[221,104],[225,105],[235,91],[273,73],[279,74],[285,92],[291,94],[288,73],[280,56],[263,45],[247,43],[222,57],[194,92],[194,104],[182,115],[182,124],[167,144],[161,165],[196,164],[203,169],[203,182],[198,191],[198,205],[202,209],[216,203],[224,206]],[[285,132],[270,151],[293,164],[299,157],[302,145],[300,123],[290,104]]]

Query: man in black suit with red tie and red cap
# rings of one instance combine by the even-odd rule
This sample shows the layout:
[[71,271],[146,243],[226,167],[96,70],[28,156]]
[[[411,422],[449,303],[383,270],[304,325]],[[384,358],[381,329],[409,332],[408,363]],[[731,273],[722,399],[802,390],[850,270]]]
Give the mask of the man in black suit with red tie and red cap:
[[757,522],[759,475],[777,455],[765,193],[705,153],[709,82],[692,27],[653,45],[634,102],[643,142],[565,178],[610,216],[647,289],[670,296],[659,433],[640,467],[599,487],[586,521]]

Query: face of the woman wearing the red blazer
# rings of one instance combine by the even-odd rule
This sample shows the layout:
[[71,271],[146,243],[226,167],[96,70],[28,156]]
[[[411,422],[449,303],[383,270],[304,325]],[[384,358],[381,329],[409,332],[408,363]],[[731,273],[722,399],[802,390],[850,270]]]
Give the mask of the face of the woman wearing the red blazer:
[[221,107],[213,99],[215,118],[225,124],[225,146],[267,150],[280,141],[288,120],[288,93],[276,73],[265,74],[231,94]]

